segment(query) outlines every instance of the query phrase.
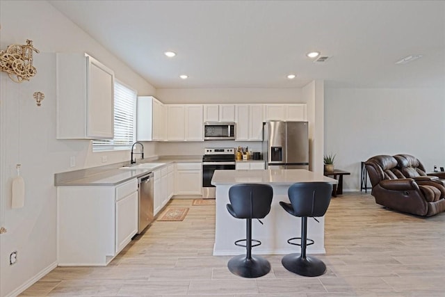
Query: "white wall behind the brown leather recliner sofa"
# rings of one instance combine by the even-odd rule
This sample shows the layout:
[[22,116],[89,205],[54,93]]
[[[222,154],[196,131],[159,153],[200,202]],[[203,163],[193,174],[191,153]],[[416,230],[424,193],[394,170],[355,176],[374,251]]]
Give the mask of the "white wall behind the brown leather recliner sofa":
[[325,90],[325,153],[351,172],[346,191],[360,188],[360,162],[407,153],[432,171],[445,167],[445,88]]

